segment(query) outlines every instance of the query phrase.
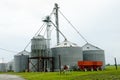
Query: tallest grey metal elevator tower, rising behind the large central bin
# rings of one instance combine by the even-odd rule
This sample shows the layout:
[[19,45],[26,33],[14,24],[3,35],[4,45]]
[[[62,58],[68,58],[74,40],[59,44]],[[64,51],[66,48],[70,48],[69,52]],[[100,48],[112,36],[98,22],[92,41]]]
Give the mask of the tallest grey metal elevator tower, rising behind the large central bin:
[[57,27],[57,29],[56,29],[56,34],[57,34],[57,45],[59,44],[59,42],[60,42],[60,39],[59,39],[59,19],[58,19],[58,9],[59,9],[59,7],[58,7],[58,4],[57,3],[55,3],[55,24],[56,24],[56,27]]

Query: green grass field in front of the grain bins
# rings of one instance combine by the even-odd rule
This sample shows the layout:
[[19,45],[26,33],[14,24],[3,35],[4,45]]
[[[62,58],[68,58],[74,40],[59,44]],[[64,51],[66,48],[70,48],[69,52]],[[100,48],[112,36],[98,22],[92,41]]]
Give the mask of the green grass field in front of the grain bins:
[[120,67],[109,66],[103,71],[72,71],[66,74],[59,72],[25,72],[9,73],[22,76],[26,80],[120,80]]

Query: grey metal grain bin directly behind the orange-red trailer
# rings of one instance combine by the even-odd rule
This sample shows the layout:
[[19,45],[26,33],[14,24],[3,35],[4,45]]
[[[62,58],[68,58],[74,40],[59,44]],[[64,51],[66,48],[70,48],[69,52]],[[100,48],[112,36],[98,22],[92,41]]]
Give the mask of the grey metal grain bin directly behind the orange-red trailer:
[[104,50],[93,46],[89,43],[85,44],[83,47],[83,60],[84,61],[102,61],[102,69],[105,68],[105,54]]

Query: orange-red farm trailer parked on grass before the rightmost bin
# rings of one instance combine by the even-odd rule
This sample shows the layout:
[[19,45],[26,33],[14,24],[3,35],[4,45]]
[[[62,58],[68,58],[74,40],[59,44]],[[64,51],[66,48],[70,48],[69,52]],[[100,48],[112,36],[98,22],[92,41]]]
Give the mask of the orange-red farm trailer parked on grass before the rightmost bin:
[[78,67],[82,71],[101,70],[102,61],[78,61]]

